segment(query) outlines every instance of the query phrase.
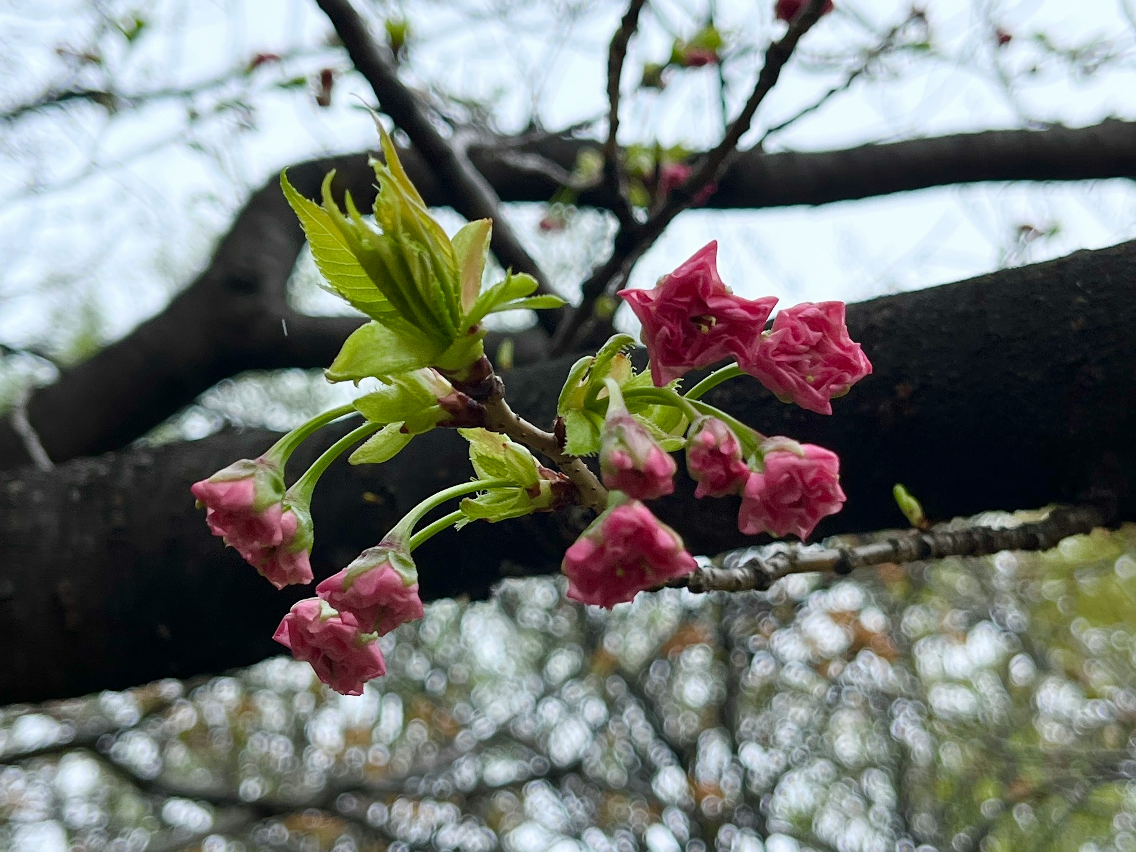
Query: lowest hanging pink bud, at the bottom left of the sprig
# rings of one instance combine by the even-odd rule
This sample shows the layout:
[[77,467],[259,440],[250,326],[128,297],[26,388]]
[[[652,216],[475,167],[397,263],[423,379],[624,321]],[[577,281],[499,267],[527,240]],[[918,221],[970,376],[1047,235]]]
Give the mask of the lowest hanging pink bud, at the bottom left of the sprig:
[[336,612],[319,598],[294,604],[273,638],[295,659],[311,663],[316,677],[343,695],[361,695],[367,680],[386,674],[378,637],[360,630],[350,612]]

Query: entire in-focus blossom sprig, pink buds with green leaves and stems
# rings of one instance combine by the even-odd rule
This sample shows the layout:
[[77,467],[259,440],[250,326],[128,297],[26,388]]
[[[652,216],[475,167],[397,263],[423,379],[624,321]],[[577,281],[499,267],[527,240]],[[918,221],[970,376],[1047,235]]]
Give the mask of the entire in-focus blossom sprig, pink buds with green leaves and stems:
[[[778,16],[799,15],[803,1],[778,0]],[[671,61],[685,67],[718,61],[721,43],[707,26],[676,42]],[[648,506],[674,493],[673,453],[683,450],[695,496],[737,500],[744,534],[807,538],[822,518],[840,511],[845,498],[835,453],[766,437],[702,396],[747,374],[785,402],[832,414],[832,400],[871,373],[849,336],[842,302],[786,308],[767,331],[777,300],[734,294],[718,275],[711,242],[652,290],[620,293],[642,325],[650,370],[634,368],[633,337],[612,336],[571,367],[553,428],[543,432],[506,403],[503,382],[485,354],[485,319],[556,308],[562,300],[535,294],[534,278],[512,273],[483,287],[492,223],[471,222],[448,236],[428,215],[385,131],[381,137],[385,161],[373,164],[381,184],[374,226],[350,198],[350,215],[340,209],[332,175],[324,182],[323,204],[282,176],[328,285],[370,317],[325,375],[357,384],[378,379],[377,389],[314,417],[264,456],[242,459],[192,487],[214,535],[277,588],[304,585],[314,580],[311,495],[332,461],[350,451],[351,463],[383,463],[435,428],[454,428],[468,443],[474,478],[427,496],[379,544],[284,616],[275,640],[309,662],[320,680],[354,695],[385,673],[379,638],[424,615],[411,553],[432,536],[473,521],[500,523],[571,504],[594,511],[598,517],[562,563],[568,596],[587,604],[611,608],[691,574],[694,557]],[[662,195],[688,177],[685,164],[663,166]],[[729,364],[679,391],[687,373],[721,361]],[[293,451],[348,416],[362,417],[364,424],[285,487]],[[559,471],[544,467],[537,454]],[[582,461],[593,454],[599,477]],[[457,509],[416,528],[459,499]]]

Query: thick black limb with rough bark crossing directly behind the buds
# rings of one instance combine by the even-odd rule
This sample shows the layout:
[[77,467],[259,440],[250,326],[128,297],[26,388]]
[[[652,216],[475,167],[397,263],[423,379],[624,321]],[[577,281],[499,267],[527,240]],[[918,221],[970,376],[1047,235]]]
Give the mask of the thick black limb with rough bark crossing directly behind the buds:
[[[932,517],[1111,494],[1136,518],[1136,242],[849,308],[875,373],[833,417],[784,406],[757,382],[715,404],[836,450],[849,502],[818,534],[902,525],[902,482]],[[552,416],[568,360],[506,374],[510,403]],[[189,677],[251,663],[290,602],[208,535],[189,485],[273,440],[226,433],[159,450],[0,475],[0,703]],[[326,436],[324,443],[331,440]],[[304,449],[310,460],[318,446]],[[342,567],[419,498],[468,476],[451,432],[382,467],[341,463],[315,499],[317,577]],[[696,552],[743,544],[730,500],[658,501]],[[550,571],[582,518],[470,525],[420,551],[427,598],[487,593]]]

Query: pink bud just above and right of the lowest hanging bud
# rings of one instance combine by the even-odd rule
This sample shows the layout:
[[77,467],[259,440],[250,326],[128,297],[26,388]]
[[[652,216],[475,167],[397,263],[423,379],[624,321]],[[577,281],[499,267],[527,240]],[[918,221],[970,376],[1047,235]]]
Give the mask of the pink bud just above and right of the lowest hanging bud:
[[379,636],[423,617],[418,571],[406,545],[398,542],[368,548],[316,586],[316,594],[340,612],[350,612],[361,629]]

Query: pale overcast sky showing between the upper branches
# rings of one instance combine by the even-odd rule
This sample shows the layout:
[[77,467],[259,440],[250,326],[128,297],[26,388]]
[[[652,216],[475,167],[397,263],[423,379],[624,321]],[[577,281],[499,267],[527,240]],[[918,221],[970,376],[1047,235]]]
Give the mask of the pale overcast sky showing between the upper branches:
[[[676,75],[667,90],[636,92],[644,61],[667,57],[711,0],[655,0],[633,42],[624,77],[620,141],[703,148],[721,132],[715,69]],[[1125,3],[1127,2],[1127,7]],[[359,3],[360,8],[364,3]],[[501,12],[494,7],[508,6]],[[717,0],[718,27],[734,56],[725,66],[727,110],[740,108],[761,50],[784,25],[770,0]],[[1136,118],[1136,0],[927,0],[929,44],[885,57],[768,150],[825,150],[996,127],[1094,124]],[[844,0],[810,33],[743,139],[813,103],[842,83],[863,50],[908,16],[892,0]],[[102,65],[73,67],[94,43],[92,9],[147,26],[128,42],[98,39]],[[605,108],[607,42],[621,2],[371,2],[371,19],[406,16],[414,39],[404,78],[423,89],[487,103],[506,132],[535,115],[548,128],[594,122]],[[103,25],[106,26],[106,25]],[[995,28],[1012,35],[997,47]],[[75,328],[114,340],[159,311],[207,261],[249,192],[283,166],[373,147],[364,103],[373,95],[308,0],[0,0],[0,109],[51,84],[122,91],[194,86],[277,53],[236,83],[192,100],[161,98],[108,114],[94,105],[0,123],[0,342],[65,348]],[[922,41],[918,28],[903,37]],[[73,62],[74,66],[74,62]],[[329,108],[310,78],[339,74]],[[105,70],[103,70],[105,69]],[[282,81],[301,78],[295,87]],[[190,109],[199,118],[187,118]],[[593,125],[596,132],[602,126]],[[582,212],[565,233],[537,228],[541,206],[509,206],[533,252],[571,293],[603,250],[609,223]],[[456,227],[457,217],[443,217]],[[1022,233],[1036,236],[1019,239]],[[1059,257],[1136,236],[1129,181],[984,184],[765,211],[679,217],[634,270],[650,286],[711,239],[724,279],[747,296],[784,302],[858,301]],[[310,277],[310,276],[308,276]],[[318,311],[339,307],[306,296]],[[629,317],[620,317],[625,326]]]

